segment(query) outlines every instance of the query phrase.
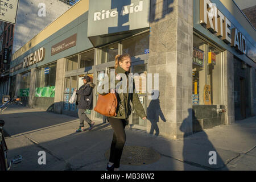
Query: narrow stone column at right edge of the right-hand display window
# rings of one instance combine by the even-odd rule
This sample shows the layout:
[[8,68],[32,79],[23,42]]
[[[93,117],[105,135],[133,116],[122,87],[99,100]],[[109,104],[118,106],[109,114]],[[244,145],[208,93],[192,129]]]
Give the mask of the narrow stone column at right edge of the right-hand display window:
[[234,115],[234,56],[229,51],[224,51],[224,105],[225,125],[235,121]]

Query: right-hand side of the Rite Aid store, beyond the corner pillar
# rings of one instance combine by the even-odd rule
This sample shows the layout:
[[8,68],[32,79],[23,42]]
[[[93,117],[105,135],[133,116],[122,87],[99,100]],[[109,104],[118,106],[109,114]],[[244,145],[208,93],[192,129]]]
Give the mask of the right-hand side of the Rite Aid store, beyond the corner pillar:
[[[254,116],[254,27],[236,3],[208,0],[194,1],[193,27],[193,60],[202,63],[193,61],[193,121],[207,129],[209,119],[216,126]],[[204,105],[225,109],[225,118],[201,115]]]

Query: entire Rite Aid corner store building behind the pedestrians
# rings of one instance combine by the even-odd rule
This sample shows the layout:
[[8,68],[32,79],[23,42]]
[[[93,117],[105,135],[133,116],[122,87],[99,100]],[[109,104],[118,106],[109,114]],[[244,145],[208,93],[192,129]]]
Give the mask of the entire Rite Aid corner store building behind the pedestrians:
[[129,53],[147,113],[133,110],[129,126],[177,139],[255,114],[255,40],[232,0],[80,0],[14,53],[11,93],[77,116],[68,101],[82,77],[97,85],[95,106],[115,55]]

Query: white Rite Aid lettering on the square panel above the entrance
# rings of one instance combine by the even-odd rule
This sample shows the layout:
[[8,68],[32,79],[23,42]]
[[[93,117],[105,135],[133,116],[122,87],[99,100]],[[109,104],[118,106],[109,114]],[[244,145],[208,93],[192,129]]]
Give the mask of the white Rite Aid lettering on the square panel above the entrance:
[[[134,5],[131,3],[130,5],[123,6],[120,15],[124,16],[126,14],[137,13],[139,11],[143,11],[143,1],[139,1],[139,5]],[[94,13],[94,21],[114,18],[118,15],[117,10],[102,10]]]

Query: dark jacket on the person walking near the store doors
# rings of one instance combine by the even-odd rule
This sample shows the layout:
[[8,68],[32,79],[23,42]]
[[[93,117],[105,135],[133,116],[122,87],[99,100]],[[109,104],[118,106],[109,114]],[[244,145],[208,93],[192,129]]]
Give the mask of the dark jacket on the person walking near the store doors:
[[95,84],[88,82],[76,90],[79,109],[93,109],[93,88]]

